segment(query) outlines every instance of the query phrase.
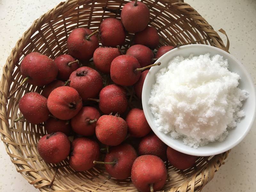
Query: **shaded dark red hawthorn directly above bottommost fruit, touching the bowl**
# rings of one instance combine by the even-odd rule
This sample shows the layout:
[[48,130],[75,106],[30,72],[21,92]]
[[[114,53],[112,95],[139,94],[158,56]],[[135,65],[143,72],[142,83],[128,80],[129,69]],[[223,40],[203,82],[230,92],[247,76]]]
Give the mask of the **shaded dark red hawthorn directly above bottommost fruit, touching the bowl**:
[[139,144],[140,155],[155,155],[163,161],[167,160],[167,145],[164,144],[154,133],[143,137]]

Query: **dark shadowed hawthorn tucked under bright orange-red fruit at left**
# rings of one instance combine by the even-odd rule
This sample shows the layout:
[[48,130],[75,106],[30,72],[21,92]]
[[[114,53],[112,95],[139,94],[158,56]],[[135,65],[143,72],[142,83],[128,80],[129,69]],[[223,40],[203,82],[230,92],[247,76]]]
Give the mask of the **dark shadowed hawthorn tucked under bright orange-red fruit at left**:
[[63,132],[67,136],[71,133],[71,125],[67,120],[60,120],[50,117],[45,122],[45,129],[48,134],[55,132]]

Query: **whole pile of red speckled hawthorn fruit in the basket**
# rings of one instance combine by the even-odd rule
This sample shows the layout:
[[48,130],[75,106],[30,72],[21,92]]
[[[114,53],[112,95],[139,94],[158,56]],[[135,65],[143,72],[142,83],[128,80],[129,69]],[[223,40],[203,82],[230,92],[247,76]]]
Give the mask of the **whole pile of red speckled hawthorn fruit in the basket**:
[[[139,1],[129,2],[122,9],[121,21],[107,18],[94,32],[88,28],[74,29],[67,40],[69,54],[52,60],[31,52],[22,60],[22,83],[44,86],[41,94],[26,93],[19,101],[19,109],[28,122],[44,122],[48,134],[39,140],[38,153],[45,162],[58,164],[69,156],[69,165],[75,171],[105,164],[113,178],[131,177],[141,192],[163,188],[167,159],[181,170],[195,164],[196,156],[167,147],[151,133],[143,110],[132,108],[124,115],[128,110],[124,86],[133,86],[141,99],[147,68],[160,64],[153,64],[152,52],[159,36],[148,22],[148,7]],[[125,42],[126,31],[135,35],[134,45],[124,55],[120,46]],[[100,33],[101,47],[97,33]],[[160,47],[155,59],[173,48]],[[103,88],[98,71],[79,67],[78,61],[92,57],[98,71],[110,74],[114,84]],[[96,102],[97,106],[92,107]],[[72,134],[75,136],[71,142],[68,136]],[[101,158],[102,154],[105,159]]]

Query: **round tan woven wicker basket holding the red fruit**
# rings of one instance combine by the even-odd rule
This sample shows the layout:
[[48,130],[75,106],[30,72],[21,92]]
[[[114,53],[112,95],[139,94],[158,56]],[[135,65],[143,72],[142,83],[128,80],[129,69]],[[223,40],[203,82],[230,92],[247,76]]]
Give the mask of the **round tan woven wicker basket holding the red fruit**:
[[[30,52],[40,52],[54,59],[67,53],[67,38],[72,29],[86,27],[95,30],[107,17],[120,15],[102,11],[102,7],[122,8],[126,0],[68,0],[35,20],[13,48],[3,69],[0,88],[1,139],[18,172],[40,191],[137,191],[130,179],[109,178],[103,166],[95,166],[87,172],[75,172],[64,160],[59,165],[56,178],[49,189],[57,165],[47,164],[38,155],[37,143],[45,134],[44,126],[25,121],[14,123],[21,116],[18,102],[26,92],[40,92],[42,87],[23,84],[10,100],[7,96],[20,85],[20,61]],[[150,23],[158,29],[159,46],[185,44],[210,44],[228,51],[211,25],[191,6],[180,0],[144,0],[150,10]],[[223,30],[222,33],[225,34]],[[123,49],[127,49],[133,34],[128,34]],[[92,64],[92,62],[91,62]],[[132,96],[130,97],[132,100]],[[168,165],[168,180],[164,191],[186,192],[202,189],[224,164],[229,151],[210,157],[198,158],[196,165],[180,171]]]

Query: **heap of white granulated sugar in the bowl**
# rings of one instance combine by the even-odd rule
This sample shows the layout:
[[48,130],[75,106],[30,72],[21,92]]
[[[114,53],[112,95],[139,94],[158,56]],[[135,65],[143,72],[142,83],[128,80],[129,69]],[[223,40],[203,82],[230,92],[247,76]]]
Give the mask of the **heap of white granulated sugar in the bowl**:
[[239,79],[220,55],[175,57],[156,74],[148,101],[157,128],[194,148],[224,140],[244,116]]

